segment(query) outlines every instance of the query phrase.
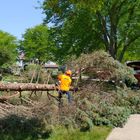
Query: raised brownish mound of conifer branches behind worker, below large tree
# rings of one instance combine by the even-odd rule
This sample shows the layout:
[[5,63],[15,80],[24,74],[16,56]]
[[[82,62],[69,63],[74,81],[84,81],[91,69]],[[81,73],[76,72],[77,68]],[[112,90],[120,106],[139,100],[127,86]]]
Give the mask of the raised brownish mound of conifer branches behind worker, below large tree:
[[79,58],[73,57],[67,64],[68,68],[79,71],[90,78],[128,81],[129,83],[137,82],[131,68],[114,60],[102,50],[91,54],[82,54]]

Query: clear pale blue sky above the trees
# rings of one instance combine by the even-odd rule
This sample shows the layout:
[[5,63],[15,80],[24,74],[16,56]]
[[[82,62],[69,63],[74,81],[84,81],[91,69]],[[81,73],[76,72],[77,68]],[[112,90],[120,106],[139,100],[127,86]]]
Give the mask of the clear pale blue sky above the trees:
[[[38,0],[0,0],[0,30],[22,39],[26,29],[43,22]],[[41,2],[43,0],[40,0]]]

